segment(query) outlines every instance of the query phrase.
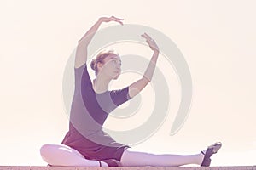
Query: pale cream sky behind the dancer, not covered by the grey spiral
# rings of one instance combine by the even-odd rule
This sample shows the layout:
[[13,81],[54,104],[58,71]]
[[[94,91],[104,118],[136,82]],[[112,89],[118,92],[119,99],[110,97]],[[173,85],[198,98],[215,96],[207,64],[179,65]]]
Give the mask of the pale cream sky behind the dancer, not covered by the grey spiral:
[[[2,0],[0,165],[46,165],[39,155],[40,146],[60,144],[68,130],[62,99],[67,60],[79,38],[103,15],[150,26],[170,37],[192,75],[193,102],[183,128],[169,135],[179,100],[178,82],[173,79],[167,81],[172,114],[154,136],[135,145],[135,150],[187,154],[221,141],[223,148],[212,159],[212,166],[255,165],[255,5],[253,0]],[[138,50],[130,53],[150,52],[139,47],[137,44]],[[127,49],[121,49],[119,54],[127,54]],[[163,63],[160,59],[159,65]],[[132,78],[136,80],[136,76]],[[124,74],[119,81],[130,77]],[[154,102],[152,91],[151,86],[143,91],[139,113]],[[150,114],[153,108],[147,109]],[[145,118],[147,115],[137,116],[133,126]],[[106,126],[119,128],[111,120]]]

